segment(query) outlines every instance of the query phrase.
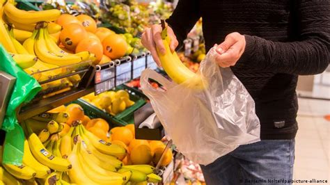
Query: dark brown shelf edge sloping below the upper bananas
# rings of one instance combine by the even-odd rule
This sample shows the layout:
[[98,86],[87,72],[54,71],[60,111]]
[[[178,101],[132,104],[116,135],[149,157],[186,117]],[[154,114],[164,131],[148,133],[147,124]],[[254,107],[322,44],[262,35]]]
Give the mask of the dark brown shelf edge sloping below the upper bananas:
[[41,99],[39,102],[33,102],[32,104],[27,104],[26,106],[20,108],[17,119],[19,121],[26,120],[28,118],[33,117],[34,115],[44,113],[45,111],[49,111],[52,108],[56,108],[57,106],[67,104],[69,102],[78,99],[79,97],[83,97],[93,92],[94,92],[93,87],[87,89],[77,88],[77,89],[69,90],[65,93],[55,95],[53,97]]

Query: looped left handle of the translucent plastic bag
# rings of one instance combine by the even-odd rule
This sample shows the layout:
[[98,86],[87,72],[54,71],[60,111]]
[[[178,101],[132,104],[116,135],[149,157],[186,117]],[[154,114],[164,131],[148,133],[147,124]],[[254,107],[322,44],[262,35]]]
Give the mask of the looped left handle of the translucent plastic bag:
[[149,79],[157,81],[160,85],[164,86],[166,90],[173,88],[173,84],[171,83],[171,81],[168,81],[168,79],[163,77],[161,74],[158,74],[154,70],[146,69],[141,74],[140,83],[143,93],[147,95],[164,95],[166,93],[165,90],[161,90],[159,88],[154,88],[153,86],[151,86],[151,84],[149,83]]

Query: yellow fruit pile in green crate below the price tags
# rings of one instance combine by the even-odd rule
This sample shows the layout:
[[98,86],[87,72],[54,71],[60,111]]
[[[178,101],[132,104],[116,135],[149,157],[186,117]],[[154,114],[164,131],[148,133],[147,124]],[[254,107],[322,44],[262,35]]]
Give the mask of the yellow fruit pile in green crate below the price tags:
[[111,90],[97,96],[91,93],[82,97],[82,99],[103,111],[107,111],[111,115],[117,115],[134,104],[129,99],[129,93],[126,90],[118,90],[116,92]]

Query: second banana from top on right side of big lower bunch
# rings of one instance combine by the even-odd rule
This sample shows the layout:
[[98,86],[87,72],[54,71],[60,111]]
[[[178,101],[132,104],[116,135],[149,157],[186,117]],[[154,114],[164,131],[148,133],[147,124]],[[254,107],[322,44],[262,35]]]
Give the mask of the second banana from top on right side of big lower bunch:
[[84,136],[84,134],[81,134],[81,132],[82,132],[81,129],[77,131],[77,134],[79,134],[79,136],[81,136],[81,145],[84,147],[84,149],[86,150],[88,155],[95,156],[96,159],[94,158],[94,160],[99,164],[99,166],[101,168],[104,168],[105,170],[113,171],[113,169],[116,170],[123,166],[123,162],[119,161],[114,156],[103,154],[103,153],[99,152],[91,144],[91,142],[88,140],[88,138],[86,138],[86,136]]

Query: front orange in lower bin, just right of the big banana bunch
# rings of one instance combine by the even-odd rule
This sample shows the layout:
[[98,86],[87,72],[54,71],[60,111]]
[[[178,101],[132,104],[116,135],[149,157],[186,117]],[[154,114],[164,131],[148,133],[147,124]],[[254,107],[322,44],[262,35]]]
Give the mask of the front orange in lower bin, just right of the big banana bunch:
[[148,145],[139,145],[131,151],[130,159],[133,164],[149,164],[152,161],[151,150]]

